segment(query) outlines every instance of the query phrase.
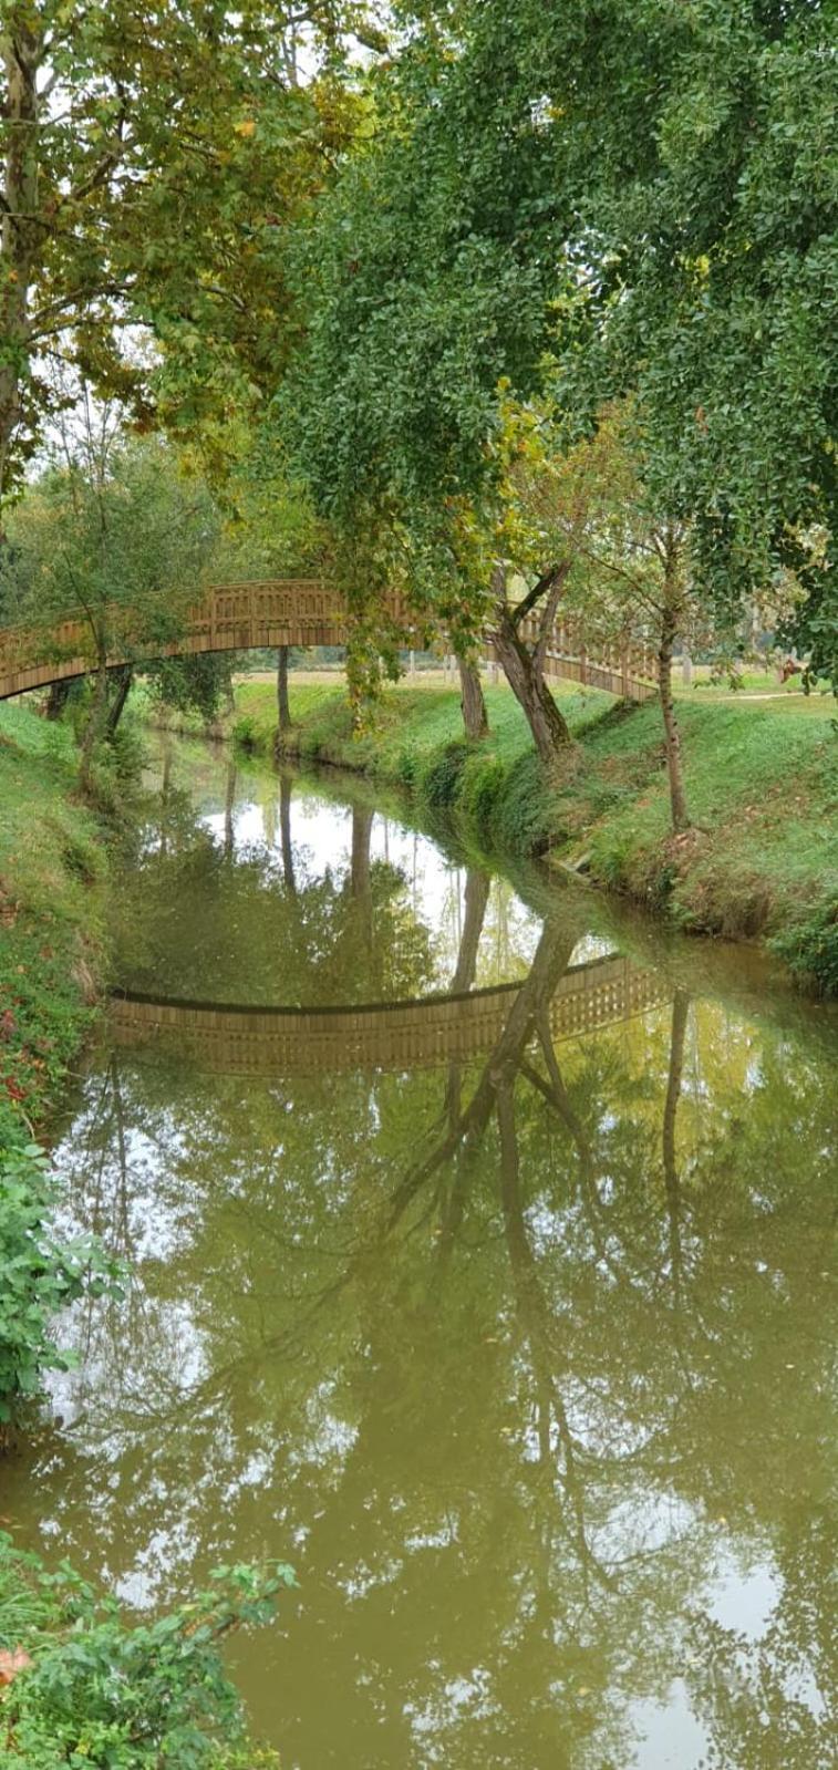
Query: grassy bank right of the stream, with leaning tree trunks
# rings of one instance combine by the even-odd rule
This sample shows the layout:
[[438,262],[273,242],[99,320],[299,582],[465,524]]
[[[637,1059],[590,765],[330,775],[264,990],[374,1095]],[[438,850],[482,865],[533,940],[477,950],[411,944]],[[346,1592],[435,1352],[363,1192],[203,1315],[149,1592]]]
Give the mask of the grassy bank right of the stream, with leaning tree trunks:
[[[762,938],[806,982],[838,993],[838,738],[834,703],[679,701],[694,828],[671,837],[657,706],[625,712],[567,687],[579,740],[547,779],[505,687],[487,690],[491,738],[461,738],[454,690],[400,685],[356,738],[340,689],[292,683],[289,750],[409,788],[418,809],[452,811],[484,844],[585,860],[590,874],[679,926]],[[234,735],[269,752],[269,683],[241,683]]]

